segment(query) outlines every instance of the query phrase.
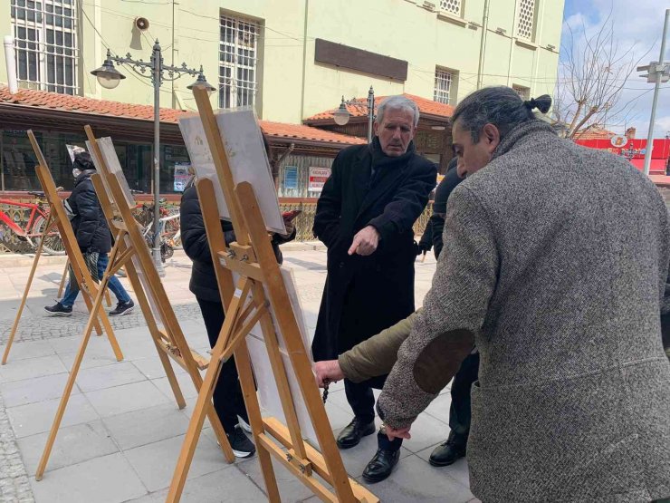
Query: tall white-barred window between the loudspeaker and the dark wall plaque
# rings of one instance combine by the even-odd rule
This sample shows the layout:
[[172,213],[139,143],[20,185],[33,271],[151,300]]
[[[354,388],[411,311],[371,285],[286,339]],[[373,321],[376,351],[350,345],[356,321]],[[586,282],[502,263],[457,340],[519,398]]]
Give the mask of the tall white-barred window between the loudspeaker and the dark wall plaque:
[[251,19],[221,15],[219,106],[254,105],[258,88],[258,40],[262,25]]

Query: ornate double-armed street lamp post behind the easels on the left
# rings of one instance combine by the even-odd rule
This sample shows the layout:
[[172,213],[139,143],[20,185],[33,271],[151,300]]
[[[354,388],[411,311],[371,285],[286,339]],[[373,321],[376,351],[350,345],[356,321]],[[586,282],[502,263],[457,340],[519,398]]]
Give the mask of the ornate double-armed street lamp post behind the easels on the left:
[[[153,177],[153,193],[154,193],[154,247],[153,257],[156,268],[160,276],[165,275],[163,268],[163,261],[160,258],[160,86],[163,82],[175,81],[183,75],[193,75],[197,77],[196,82],[187,86],[192,89],[195,85],[204,85],[208,91],[215,91],[215,87],[209,84],[205,75],[203,74],[203,67],[200,70],[188,68],[187,63],[182,63],[181,66],[171,66],[163,63],[163,54],[161,53],[158,39],[151,51],[151,59],[148,62],[144,60],[135,60],[130,53],[125,57],[112,56],[110,50],[107,50],[107,59],[102,63],[102,66],[97,70],[91,72],[105,89],[114,89],[119,85],[121,79],[126,76],[114,68],[114,63],[128,64],[130,69],[137,73],[140,77],[148,78],[154,86],[154,177]],[[147,74],[149,71],[149,74]],[[168,73],[168,77],[164,75]]]

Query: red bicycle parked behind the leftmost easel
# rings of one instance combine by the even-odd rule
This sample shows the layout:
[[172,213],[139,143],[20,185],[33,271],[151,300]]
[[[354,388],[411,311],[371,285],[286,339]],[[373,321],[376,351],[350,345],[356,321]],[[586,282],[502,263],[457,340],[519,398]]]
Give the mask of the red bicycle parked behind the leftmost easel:
[[[22,203],[12,199],[0,199],[0,223],[5,224],[14,232],[16,237],[36,249],[43,239],[42,249],[49,255],[65,255],[65,247],[62,244],[61,234],[58,228],[52,227],[44,236],[46,230],[46,221],[49,218],[49,209],[43,204],[43,192],[28,192],[31,196],[36,196],[36,203]],[[5,207],[19,208],[11,218],[5,212]],[[29,212],[28,220],[24,222],[24,213]],[[0,227],[0,240],[5,240],[4,229]]]

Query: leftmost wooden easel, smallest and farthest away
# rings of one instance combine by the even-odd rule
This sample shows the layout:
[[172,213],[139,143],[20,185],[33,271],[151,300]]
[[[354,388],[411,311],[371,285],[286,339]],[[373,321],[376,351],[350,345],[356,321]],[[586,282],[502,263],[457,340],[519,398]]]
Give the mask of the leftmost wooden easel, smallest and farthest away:
[[[40,145],[37,143],[33,131],[28,131],[28,138],[33,145],[33,150],[35,152],[35,156],[37,157],[37,162],[39,163],[35,168],[37,172],[37,178],[40,180],[40,184],[42,185],[44,192],[44,198],[46,198],[47,204],[49,205],[49,216],[44,227],[44,233],[49,232],[54,226],[58,227],[58,230],[61,233],[62,243],[68,256],[68,261],[72,263],[72,270],[74,271],[75,276],[74,280],[76,280],[77,284],[80,285],[81,296],[86,303],[86,307],[91,313],[93,297],[97,295],[99,290],[104,291],[104,288],[97,285],[97,282],[93,280],[91,273],[86,266],[84,257],[81,254],[81,250],[77,245],[77,238],[74,236],[72,224],[70,219],[67,217],[67,214],[65,213],[65,208],[63,208],[62,200],[58,196],[56,184],[53,182],[51,171],[49,170],[46,160],[44,159],[42,149],[40,149]],[[5,353],[3,354],[3,365],[7,362],[9,351],[12,348],[12,343],[14,343],[14,335],[16,334],[16,329],[18,328],[21,315],[24,312],[25,302],[28,298],[30,286],[33,284],[37,263],[40,260],[40,256],[42,256],[43,242],[43,239],[40,239],[40,244],[37,247],[37,251],[35,252],[33,266],[30,270],[30,275],[28,276],[28,282],[25,285],[24,296],[21,299],[21,305],[19,305],[19,309],[16,312],[14,325],[12,326],[12,331],[9,334],[9,340],[7,341],[7,346],[5,347]],[[65,270],[67,271],[67,266]],[[114,337],[114,331],[111,329],[110,320],[104,311],[102,311],[94,318],[93,326],[96,333],[99,335],[102,334],[102,328],[104,328],[104,331],[110,340],[111,348],[114,351],[116,359],[118,361],[123,360],[123,353],[121,353],[119,343],[117,343],[116,337]]]

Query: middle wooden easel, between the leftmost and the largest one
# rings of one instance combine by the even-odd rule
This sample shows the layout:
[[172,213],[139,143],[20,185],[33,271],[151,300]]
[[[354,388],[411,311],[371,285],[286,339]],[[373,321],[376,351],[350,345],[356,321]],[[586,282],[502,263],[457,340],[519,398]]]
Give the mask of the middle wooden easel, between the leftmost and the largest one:
[[[120,175],[110,171],[101,154],[98,142],[91,131],[91,127],[86,126],[85,131],[91,145],[91,154],[94,159],[98,160],[98,173],[93,175],[91,180],[100,200],[105,218],[107,218],[110,228],[114,229],[116,234],[114,247],[110,252],[110,263],[101,279],[101,287],[104,288],[108,284],[110,277],[116,274],[121,267],[125,267],[130,284],[133,287],[142,314],[147,322],[149,334],[151,334],[151,338],[156,345],[158,357],[168,376],[168,382],[175,395],[177,406],[179,409],[183,409],[186,407],[186,401],[179,388],[177,377],[169,358],[172,358],[188,372],[197,391],[200,390],[200,386],[202,385],[200,370],[206,369],[209,362],[205,357],[188,347],[187,340],[177,322],[177,316],[169,304],[168,295],[163,288],[156,266],[149,255],[148,247],[139,230],[139,224],[132,217],[129,206],[125,204],[123,190],[118,179]],[[110,193],[107,191],[108,188],[110,189]],[[113,201],[110,196],[113,198]],[[42,479],[46,463],[49,460],[53,442],[62,420],[62,414],[67,406],[72,387],[79,372],[81,360],[91,337],[95,314],[100,310],[101,304],[102,295],[99,292],[95,296],[91,316],[86,324],[79,351],[74,358],[74,363],[72,363],[72,371],[62,394],[61,403],[53,420],[52,429],[35,474],[37,480]],[[158,315],[155,315],[155,312],[158,312]],[[158,323],[162,324],[163,328],[159,328]],[[211,401],[207,408],[207,414],[212,424],[212,429],[215,431],[216,439],[224,451],[225,459],[228,462],[233,462],[235,454],[228,438],[225,436],[225,430],[216,415]]]

